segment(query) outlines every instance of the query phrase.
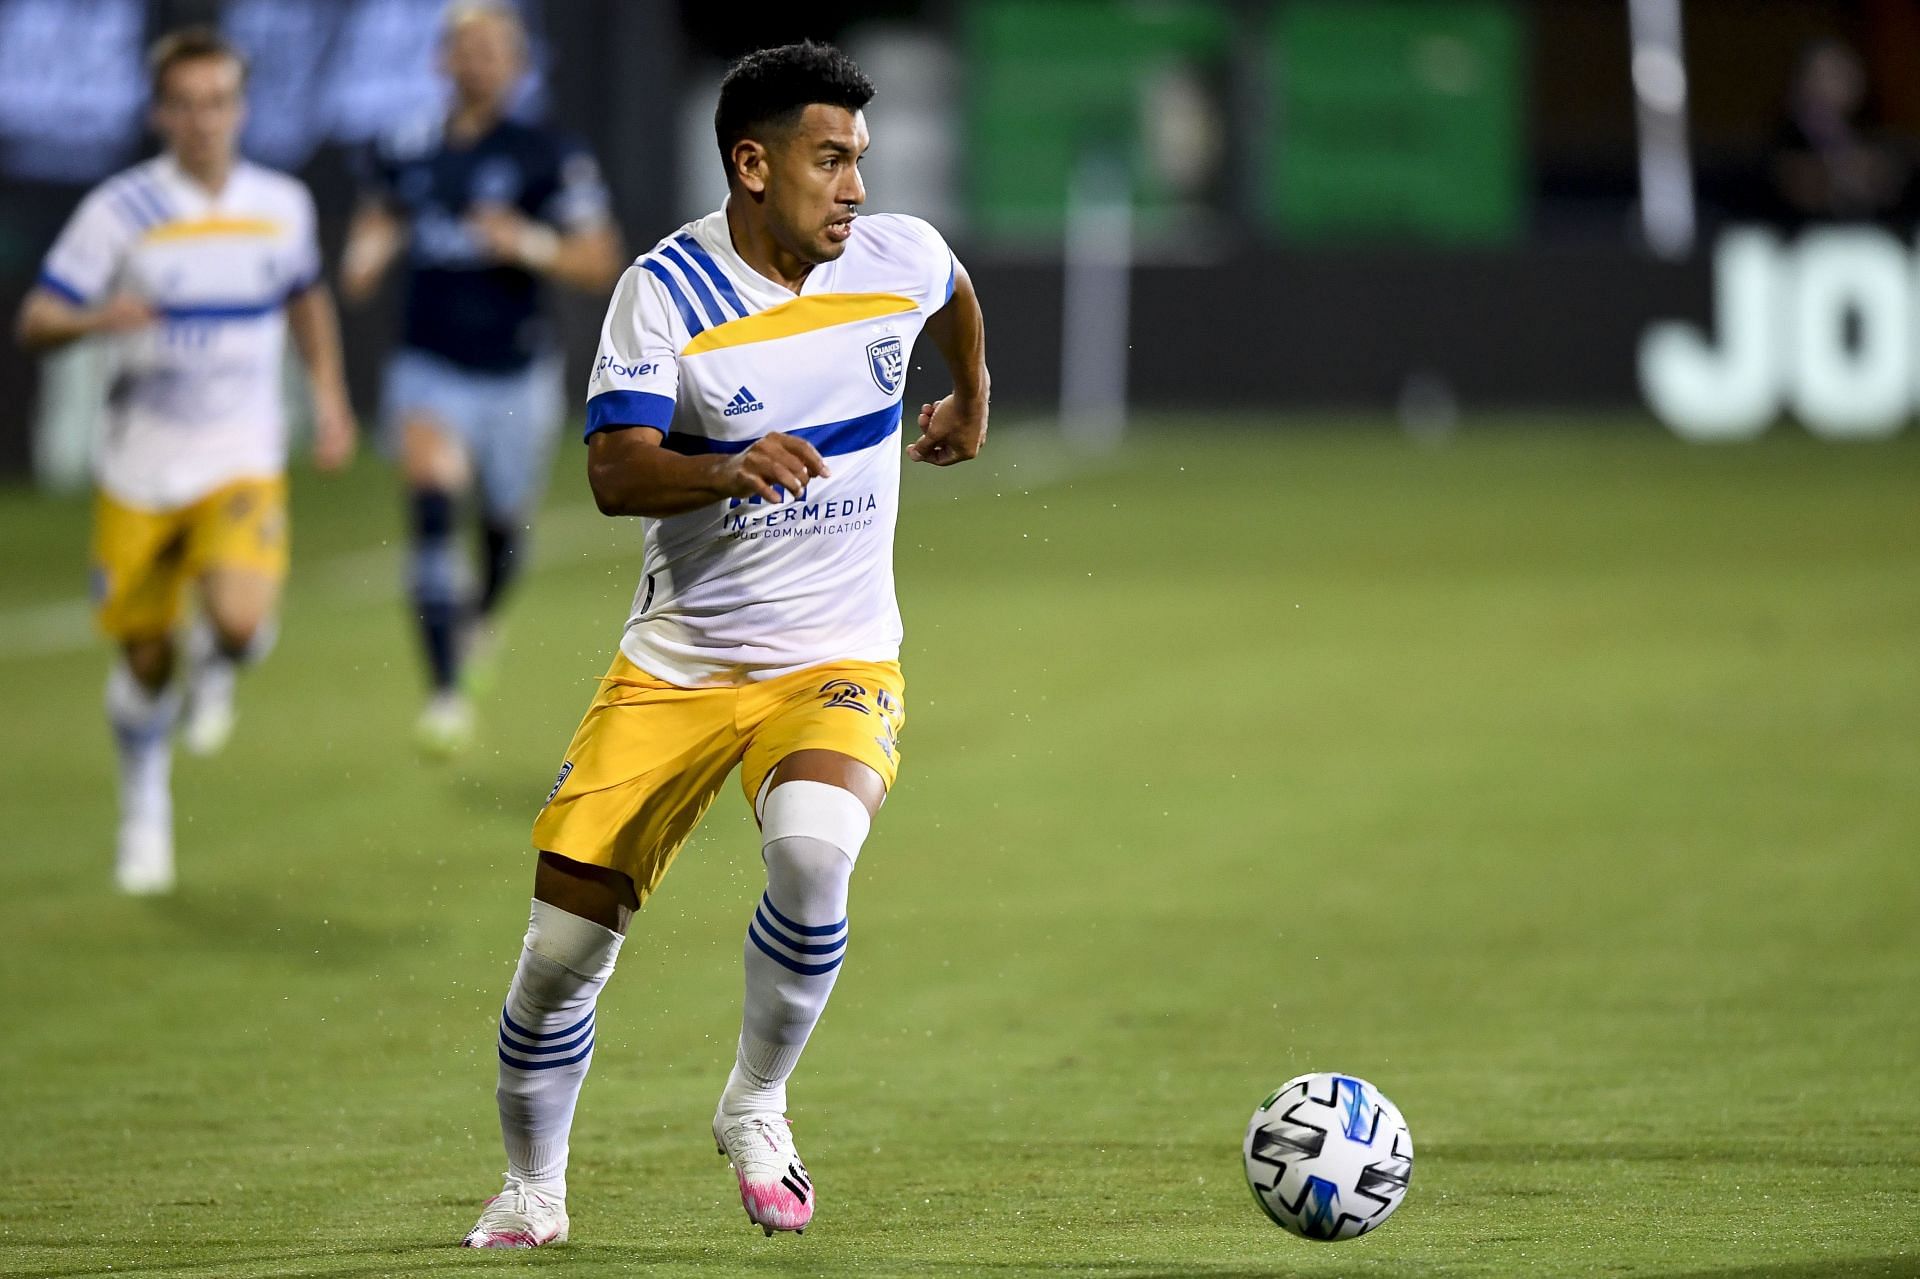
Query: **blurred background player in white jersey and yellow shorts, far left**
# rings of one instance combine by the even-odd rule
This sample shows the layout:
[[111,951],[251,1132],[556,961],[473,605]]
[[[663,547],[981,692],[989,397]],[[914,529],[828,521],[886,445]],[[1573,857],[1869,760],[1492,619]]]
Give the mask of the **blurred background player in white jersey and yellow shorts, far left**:
[[[271,643],[286,576],[288,328],[313,390],[315,463],[336,469],[353,453],[313,200],[236,154],[246,63],[217,33],[186,29],[154,46],[150,71],[165,152],[81,202],[19,313],[29,350],[111,340],[92,574],[100,626],[121,647],[108,720],[121,774],[117,878],[129,893],[173,887],[169,772],[182,701],[186,745],[217,751],[232,728],[234,670]],[[188,582],[202,618],[177,680]]]

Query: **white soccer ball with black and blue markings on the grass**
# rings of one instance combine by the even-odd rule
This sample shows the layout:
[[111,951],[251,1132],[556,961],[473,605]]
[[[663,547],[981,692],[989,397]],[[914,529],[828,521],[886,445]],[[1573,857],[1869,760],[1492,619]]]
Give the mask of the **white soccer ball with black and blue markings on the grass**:
[[1302,1239],[1359,1239],[1405,1198],[1413,1135],[1365,1079],[1300,1075],[1260,1102],[1240,1156],[1275,1225]]

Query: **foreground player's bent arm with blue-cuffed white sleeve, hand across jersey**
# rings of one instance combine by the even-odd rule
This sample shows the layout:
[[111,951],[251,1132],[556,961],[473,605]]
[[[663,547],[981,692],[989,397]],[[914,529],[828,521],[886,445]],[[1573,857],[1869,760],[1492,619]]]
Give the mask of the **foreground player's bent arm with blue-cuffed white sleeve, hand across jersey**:
[[780,432],[739,453],[668,447],[682,342],[659,280],[628,267],[588,384],[588,486],[601,513],[659,519],[728,497],[780,501],[828,474],[814,446]]

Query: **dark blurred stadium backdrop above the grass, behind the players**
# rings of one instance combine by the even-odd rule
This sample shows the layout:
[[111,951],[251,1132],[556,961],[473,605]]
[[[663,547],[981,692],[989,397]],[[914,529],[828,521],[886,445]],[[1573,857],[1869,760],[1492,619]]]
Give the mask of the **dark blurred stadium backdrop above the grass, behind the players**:
[[[1678,0],[524,8],[538,46],[524,109],[591,142],[636,248],[720,196],[708,134],[726,61],[762,40],[843,40],[883,88],[874,207],[947,229],[996,300],[1002,407],[1058,401],[1062,271],[1081,261],[1089,298],[1112,294],[1100,215],[1116,202],[1131,209],[1125,386],[1144,407],[1444,422],[1651,396],[1670,417],[1713,417],[1697,382],[1734,374],[1665,346],[1644,371],[1649,330],[1715,313],[1713,250],[1732,230],[1832,219],[1855,230],[1814,246],[1807,305],[1839,315],[1839,336],[1809,321],[1801,338],[1837,382],[1826,398],[1864,382],[1870,424],[1887,430],[1893,365],[1903,390],[1914,382],[1910,290],[1857,280],[1907,261],[1897,240],[1920,202],[1907,0],[1688,0],[1684,38]],[[83,186],[142,154],[140,56],[184,21],[217,21],[252,52],[246,150],[311,182],[338,248],[353,150],[438,102],[440,10],[0,2],[0,303],[33,280]],[[1068,236],[1077,211],[1092,221]],[[1891,234],[1862,230],[1876,225]],[[349,332],[367,405],[388,315],[361,313]],[[1260,359],[1221,359],[1240,342]],[[1083,346],[1083,390],[1104,392],[1110,353]],[[572,350],[582,359],[586,342]],[[31,363],[0,355],[0,401],[19,413],[33,390]],[[73,424],[48,434],[42,471],[69,478]],[[27,471],[33,440],[17,421],[0,432],[0,472]]]

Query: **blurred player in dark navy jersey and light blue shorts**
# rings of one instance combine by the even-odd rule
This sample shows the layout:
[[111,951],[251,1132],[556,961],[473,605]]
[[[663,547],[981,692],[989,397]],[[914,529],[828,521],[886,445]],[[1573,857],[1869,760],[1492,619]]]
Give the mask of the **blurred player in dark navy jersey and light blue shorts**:
[[[507,6],[455,8],[442,65],[451,109],[374,146],[342,267],[342,288],[359,302],[405,255],[401,350],[382,415],[409,488],[409,588],[432,680],[419,737],[432,753],[472,734],[467,691],[486,682],[493,618],[522,567],[566,411],[541,282],[597,292],[622,267],[591,154],[509,115],[528,69],[520,17]],[[474,488],[486,551],[468,591],[455,511]]]

